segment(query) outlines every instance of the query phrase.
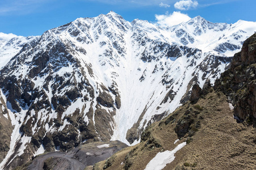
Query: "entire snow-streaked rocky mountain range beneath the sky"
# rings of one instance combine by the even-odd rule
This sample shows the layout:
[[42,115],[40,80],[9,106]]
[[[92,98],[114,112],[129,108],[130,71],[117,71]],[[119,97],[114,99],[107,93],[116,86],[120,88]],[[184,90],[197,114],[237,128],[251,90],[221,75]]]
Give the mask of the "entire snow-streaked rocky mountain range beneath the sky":
[[80,138],[135,145],[188,100],[193,84],[213,83],[254,30],[254,22],[200,16],[161,28],[111,11],[3,42],[0,116],[14,129],[0,167],[70,150]]

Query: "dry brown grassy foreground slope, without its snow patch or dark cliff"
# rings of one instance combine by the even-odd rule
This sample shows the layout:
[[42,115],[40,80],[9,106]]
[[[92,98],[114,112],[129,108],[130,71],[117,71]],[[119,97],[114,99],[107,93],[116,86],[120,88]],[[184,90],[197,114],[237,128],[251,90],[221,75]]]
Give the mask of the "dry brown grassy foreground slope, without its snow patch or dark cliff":
[[[255,129],[246,122],[237,124],[226,96],[212,88],[210,91],[198,103],[186,103],[164,120],[152,124],[143,134],[145,141],[124,148],[95,164],[94,169],[144,169],[158,152],[173,150],[184,141],[188,144],[164,169],[256,169]],[[179,120],[192,123],[188,133],[174,145]]]

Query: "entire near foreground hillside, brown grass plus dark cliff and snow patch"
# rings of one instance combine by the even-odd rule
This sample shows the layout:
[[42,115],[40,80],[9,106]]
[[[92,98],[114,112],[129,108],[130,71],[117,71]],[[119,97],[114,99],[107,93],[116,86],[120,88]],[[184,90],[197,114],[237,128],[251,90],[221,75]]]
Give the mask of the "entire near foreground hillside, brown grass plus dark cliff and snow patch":
[[93,169],[255,169],[255,42],[256,34],[245,41],[216,90],[195,84],[190,101],[148,126],[139,144]]

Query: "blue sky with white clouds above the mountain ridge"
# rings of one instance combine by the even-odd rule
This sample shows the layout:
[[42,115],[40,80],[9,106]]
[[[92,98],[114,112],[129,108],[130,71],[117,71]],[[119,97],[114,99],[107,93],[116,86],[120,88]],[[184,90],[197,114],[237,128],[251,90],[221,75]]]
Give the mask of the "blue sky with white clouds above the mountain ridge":
[[111,10],[129,22],[139,18],[163,25],[198,15],[213,23],[256,22],[255,6],[255,0],[1,0],[0,32],[41,35],[77,18]]

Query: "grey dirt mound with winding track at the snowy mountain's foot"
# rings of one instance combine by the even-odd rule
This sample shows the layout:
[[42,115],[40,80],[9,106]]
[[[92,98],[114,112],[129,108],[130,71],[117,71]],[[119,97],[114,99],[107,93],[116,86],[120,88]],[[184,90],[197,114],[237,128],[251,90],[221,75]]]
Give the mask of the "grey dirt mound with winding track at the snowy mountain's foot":
[[127,147],[127,145],[120,141],[93,142],[83,145],[81,149],[74,148],[69,152],[48,152],[47,154],[37,156],[28,166],[28,170],[83,170],[89,165],[94,165],[109,158],[124,147]]

